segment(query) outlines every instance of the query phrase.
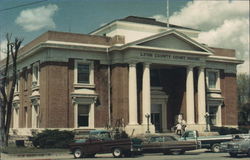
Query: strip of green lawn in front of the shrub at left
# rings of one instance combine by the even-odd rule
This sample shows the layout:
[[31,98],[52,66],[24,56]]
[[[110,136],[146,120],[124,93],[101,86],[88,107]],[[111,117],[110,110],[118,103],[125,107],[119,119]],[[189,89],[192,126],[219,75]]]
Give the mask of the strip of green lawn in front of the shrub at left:
[[35,147],[16,147],[14,144],[10,144],[4,151],[7,154],[60,154],[60,153],[69,153],[69,149],[59,149],[59,148],[50,148],[50,149],[42,149]]

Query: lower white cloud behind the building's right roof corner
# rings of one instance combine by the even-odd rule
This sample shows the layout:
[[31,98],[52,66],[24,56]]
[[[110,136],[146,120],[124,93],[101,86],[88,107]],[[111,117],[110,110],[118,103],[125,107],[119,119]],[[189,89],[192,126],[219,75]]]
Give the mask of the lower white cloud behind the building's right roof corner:
[[239,59],[239,72],[249,73],[249,20],[247,18],[225,20],[224,23],[207,32],[199,34],[198,41],[214,47],[232,48]]

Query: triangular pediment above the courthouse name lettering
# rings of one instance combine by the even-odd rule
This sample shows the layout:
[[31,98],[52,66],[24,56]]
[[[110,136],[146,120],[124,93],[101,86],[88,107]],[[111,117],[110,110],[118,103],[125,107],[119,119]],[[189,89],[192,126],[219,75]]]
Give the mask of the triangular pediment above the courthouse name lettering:
[[212,54],[212,50],[175,30],[160,33],[134,42],[132,45]]

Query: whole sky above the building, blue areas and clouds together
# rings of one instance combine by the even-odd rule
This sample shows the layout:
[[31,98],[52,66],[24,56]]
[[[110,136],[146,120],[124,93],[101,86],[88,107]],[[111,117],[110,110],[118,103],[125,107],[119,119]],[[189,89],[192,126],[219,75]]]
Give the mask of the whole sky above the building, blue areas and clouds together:
[[[0,55],[4,56],[7,32],[24,38],[25,45],[48,30],[88,34],[130,15],[166,22],[166,1],[0,0]],[[199,42],[235,49],[237,57],[245,60],[238,70],[249,73],[248,0],[169,0],[169,11],[170,23],[202,31]]]

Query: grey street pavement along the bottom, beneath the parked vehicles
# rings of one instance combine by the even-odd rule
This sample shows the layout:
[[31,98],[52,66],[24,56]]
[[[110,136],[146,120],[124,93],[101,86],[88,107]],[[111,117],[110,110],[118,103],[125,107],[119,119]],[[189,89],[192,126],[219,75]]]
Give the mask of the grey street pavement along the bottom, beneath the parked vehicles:
[[[40,157],[14,157],[2,155],[1,160],[73,160],[74,157],[72,154],[63,154],[63,155],[51,155],[51,156],[40,156]],[[141,156],[133,158],[113,158],[112,154],[97,154],[95,158],[82,158],[84,160],[234,160],[242,159],[249,160],[250,158],[242,155],[237,158],[232,158],[228,153],[212,153],[204,149],[188,151],[184,155],[163,155],[161,153],[156,154],[144,154]]]

